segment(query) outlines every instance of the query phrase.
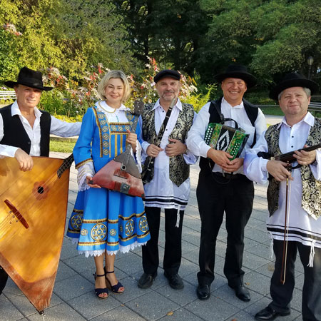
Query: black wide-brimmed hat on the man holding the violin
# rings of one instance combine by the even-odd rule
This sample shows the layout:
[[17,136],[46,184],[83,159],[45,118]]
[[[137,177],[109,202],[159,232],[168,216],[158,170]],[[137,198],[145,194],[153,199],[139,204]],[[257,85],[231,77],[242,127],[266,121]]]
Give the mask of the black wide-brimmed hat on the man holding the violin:
[[310,81],[300,73],[287,73],[280,83],[277,83],[270,91],[270,98],[278,100],[279,93],[290,87],[305,87],[309,88],[312,93],[319,89],[319,85],[314,81]]

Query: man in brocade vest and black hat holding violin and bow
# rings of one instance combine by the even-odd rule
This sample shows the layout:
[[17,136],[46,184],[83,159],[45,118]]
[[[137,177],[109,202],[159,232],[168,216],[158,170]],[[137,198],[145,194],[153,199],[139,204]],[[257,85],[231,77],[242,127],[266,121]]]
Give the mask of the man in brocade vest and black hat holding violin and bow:
[[[256,320],[290,315],[297,252],[304,269],[302,318],[321,320],[321,151],[298,151],[320,144],[321,121],[307,111],[310,95],[317,88],[317,83],[299,73],[288,73],[272,88],[270,97],[279,101],[285,116],[281,123],[270,126],[245,156],[248,178],[258,183],[269,181],[267,231],[275,253],[270,284],[272,302],[255,315]],[[291,151],[295,151],[292,166],[300,165],[292,170],[287,169],[287,163],[258,156],[259,152],[275,156]]]

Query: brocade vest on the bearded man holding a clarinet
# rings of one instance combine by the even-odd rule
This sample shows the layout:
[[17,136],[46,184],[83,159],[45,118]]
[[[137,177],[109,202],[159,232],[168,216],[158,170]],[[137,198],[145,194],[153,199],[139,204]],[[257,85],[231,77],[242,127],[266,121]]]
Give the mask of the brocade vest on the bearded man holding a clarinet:
[[[143,140],[155,144],[157,134],[155,130],[155,103],[148,103],[141,115],[143,120]],[[182,111],[178,114],[177,121],[169,138],[178,139],[185,143],[188,131],[193,124],[194,108],[189,103],[182,103]],[[176,185],[182,184],[190,176],[190,166],[185,163],[182,154],[170,156],[169,158],[169,177]]]

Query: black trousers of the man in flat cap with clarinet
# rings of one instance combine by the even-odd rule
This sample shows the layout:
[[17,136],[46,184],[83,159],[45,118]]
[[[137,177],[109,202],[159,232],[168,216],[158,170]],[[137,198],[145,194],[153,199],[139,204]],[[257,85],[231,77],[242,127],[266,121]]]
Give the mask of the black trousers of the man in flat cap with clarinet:
[[[155,275],[159,265],[158,235],[161,221],[161,208],[146,207],[145,213],[151,233],[151,240],[142,246],[143,270]],[[175,275],[182,259],[182,227],[184,211],[180,210],[180,224],[176,228],[177,210],[165,209],[165,253],[163,267],[168,275]]]

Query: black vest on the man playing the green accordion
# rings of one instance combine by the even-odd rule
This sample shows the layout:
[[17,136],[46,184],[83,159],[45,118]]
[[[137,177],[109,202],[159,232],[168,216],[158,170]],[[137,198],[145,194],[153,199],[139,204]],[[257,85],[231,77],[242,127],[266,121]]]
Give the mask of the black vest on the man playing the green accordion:
[[[222,104],[222,98],[219,98],[217,101],[214,101],[219,107],[219,110],[221,110],[221,104]],[[258,107],[254,106],[252,103],[245,101],[243,99],[243,106],[245,109],[246,114],[248,115],[248,118],[252,124],[253,127],[256,121],[256,118],[258,117]],[[210,108],[208,109],[208,112],[210,113],[210,119],[208,123],[220,123],[220,115],[218,114],[218,111],[216,110],[214,104],[211,102],[210,103]],[[242,125],[239,124],[241,127]],[[254,137],[253,137],[253,144],[251,147],[253,147],[256,143],[256,131],[254,132]],[[208,173],[212,172],[214,167],[214,162],[210,158],[204,158],[200,157],[200,169],[205,170]]]

